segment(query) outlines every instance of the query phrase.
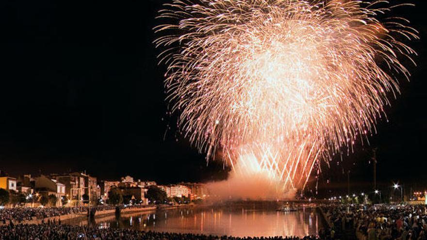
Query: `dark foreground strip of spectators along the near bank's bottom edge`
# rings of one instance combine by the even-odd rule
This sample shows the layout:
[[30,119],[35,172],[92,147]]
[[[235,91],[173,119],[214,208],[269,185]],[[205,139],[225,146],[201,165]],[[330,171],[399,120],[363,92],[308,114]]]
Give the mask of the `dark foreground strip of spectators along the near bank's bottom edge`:
[[201,234],[143,232],[133,229],[49,224],[11,224],[0,226],[0,240],[319,240],[315,236],[239,238]]

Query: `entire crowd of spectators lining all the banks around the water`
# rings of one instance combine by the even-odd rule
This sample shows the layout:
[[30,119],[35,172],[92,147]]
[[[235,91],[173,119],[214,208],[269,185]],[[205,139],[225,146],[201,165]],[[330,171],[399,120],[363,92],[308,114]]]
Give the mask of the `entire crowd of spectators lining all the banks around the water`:
[[[120,208],[137,207],[140,206],[120,206]],[[97,210],[115,208],[115,206],[96,207]],[[333,240],[355,238],[358,240],[427,240],[427,208],[425,205],[328,204],[321,206],[321,209],[328,224],[319,230],[318,236],[239,238],[63,225],[59,217],[57,221],[49,219],[43,221],[42,224],[19,224],[33,218],[53,217],[55,219],[54,217],[60,215],[82,213],[86,212],[88,208],[2,208],[0,209],[0,240]]]

